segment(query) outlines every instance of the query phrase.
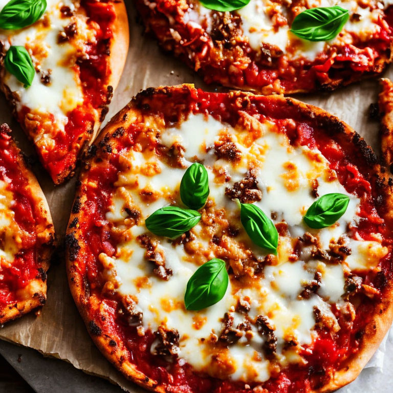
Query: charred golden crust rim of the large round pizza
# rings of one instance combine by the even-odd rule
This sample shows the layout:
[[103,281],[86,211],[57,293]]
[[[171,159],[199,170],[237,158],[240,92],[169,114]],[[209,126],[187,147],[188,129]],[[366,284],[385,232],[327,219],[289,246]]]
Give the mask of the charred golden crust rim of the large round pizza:
[[[170,96],[172,92],[178,91],[179,89],[185,91],[194,91],[192,84],[183,84],[181,86],[170,86],[170,87],[159,87],[156,89],[148,89],[141,93],[141,96],[154,96],[155,94],[164,94]],[[252,97],[251,93],[244,92],[230,92],[229,94],[234,97]],[[270,97],[271,102],[276,102],[278,105],[288,105],[294,108],[294,110],[303,115],[309,116],[313,119],[318,119],[321,123],[326,125],[326,129],[332,130],[332,132],[340,132],[346,135],[347,139],[352,141],[354,145],[358,147],[363,155],[365,162],[370,166],[370,171],[375,173],[375,176],[379,179],[379,192],[383,195],[387,204],[393,203],[393,180],[389,178],[388,172],[382,167],[374,155],[372,149],[365,143],[364,139],[361,138],[350,126],[339,120],[337,117],[326,113],[321,108],[305,104],[292,98],[285,98],[281,95],[275,95]],[[119,127],[126,129],[127,125],[132,122],[132,119],[136,119],[138,116],[138,108],[136,100],[131,101],[127,106],[123,108],[112,120],[105,126],[96,140],[95,144],[98,145],[105,137],[112,135]],[[134,116],[135,115],[135,116]],[[83,174],[82,174],[83,176]],[[78,201],[82,197],[82,194],[77,191],[75,201]],[[100,299],[95,295],[91,295],[86,292],[86,283],[83,280],[83,276],[80,274],[77,268],[77,262],[75,262],[75,254],[77,253],[78,246],[78,230],[71,229],[73,227],[74,220],[78,217],[78,211],[74,211],[71,214],[69,222],[68,233],[71,236],[69,238],[70,244],[68,247],[67,254],[67,273],[69,278],[69,284],[71,293],[74,297],[78,310],[89,330],[89,333],[98,346],[104,356],[110,360],[117,369],[119,369],[128,379],[138,383],[139,385],[153,391],[164,393],[168,391],[163,384],[158,384],[155,380],[152,380],[141,373],[137,367],[125,359],[124,353],[122,352],[121,343],[116,342],[116,345],[111,345],[111,341],[115,337],[112,337],[108,332],[101,331],[97,324],[92,325],[92,315],[94,311],[100,309]],[[389,225],[393,224],[393,219],[386,213],[385,219]],[[75,247],[76,246],[76,247]],[[386,287],[386,292],[389,293],[393,290],[391,282]],[[91,311],[93,309],[93,312]],[[101,312],[101,311],[100,311]],[[102,314],[101,314],[102,315]],[[313,393],[328,393],[334,391],[350,382],[352,382],[361,372],[367,361],[374,354],[378,348],[383,337],[386,335],[391,322],[393,321],[393,303],[388,297],[385,297],[383,301],[378,304],[374,317],[367,324],[367,328],[364,332],[361,340],[359,351],[352,357],[348,358],[345,364],[342,364],[339,369],[336,370],[334,375],[331,376],[329,383],[324,386],[311,390]]]

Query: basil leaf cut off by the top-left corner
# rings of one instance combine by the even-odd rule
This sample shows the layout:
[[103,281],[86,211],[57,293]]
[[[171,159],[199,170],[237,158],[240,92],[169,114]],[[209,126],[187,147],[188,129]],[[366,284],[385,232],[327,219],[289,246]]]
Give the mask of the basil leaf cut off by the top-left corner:
[[17,30],[30,26],[46,9],[46,0],[11,0],[0,12],[0,29]]

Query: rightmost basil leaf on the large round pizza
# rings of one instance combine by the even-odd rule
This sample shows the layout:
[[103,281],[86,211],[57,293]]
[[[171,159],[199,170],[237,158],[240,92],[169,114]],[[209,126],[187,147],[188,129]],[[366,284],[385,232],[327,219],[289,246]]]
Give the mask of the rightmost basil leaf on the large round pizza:
[[333,225],[344,213],[350,203],[347,195],[332,193],[322,195],[307,210],[303,221],[310,228],[326,228]]

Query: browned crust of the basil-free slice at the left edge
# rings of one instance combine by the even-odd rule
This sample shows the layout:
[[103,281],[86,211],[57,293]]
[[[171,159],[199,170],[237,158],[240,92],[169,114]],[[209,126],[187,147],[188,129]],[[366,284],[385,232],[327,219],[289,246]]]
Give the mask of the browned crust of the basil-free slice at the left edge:
[[[11,144],[19,151],[13,141],[11,141]],[[31,198],[35,203],[36,211],[39,214],[37,217],[38,224],[36,226],[36,233],[37,238],[41,242],[38,250],[40,276],[31,280],[28,285],[21,290],[21,294],[18,297],[26,297],[25,299],[18,300],[16,303],[13,303],[0,311],[0,324],[19,318],[45,304],[47,299],[46,276],[49,269],[51,255],[55,248],[55,230],[48,202],[37,179],[32,171],[27,167],[25,158],[20,151],[15,165],[20,171],[20,176],[28,181],[28,189],[30,191]]]

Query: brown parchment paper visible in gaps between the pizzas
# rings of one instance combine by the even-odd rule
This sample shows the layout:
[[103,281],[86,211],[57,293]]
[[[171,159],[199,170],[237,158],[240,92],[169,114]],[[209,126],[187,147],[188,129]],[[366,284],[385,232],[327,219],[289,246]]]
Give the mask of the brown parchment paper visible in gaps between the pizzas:
[[[115,115],[136,93],[149,86],[195,83],[206,85],[181,61],[162,53],[150,36],[143,36],[143,28],[137,23],[132,2],[128,2],[130,23],[130,50],[119,87],[115,93],[106,119]],[[393,70],[386,73],[393,77]],[[210,86],[208,88],[212,90]],[[339,90],[333,94],[299,96],[305,102],[318,105],[350,124],[366,141],[379,152],[378,123],[368,120],[368,107],[376,102],[378,81],[370,79]],[[0,98],[0,121],[7,122],[13,129],[20,148],[28,155],[33,154],[19,125],[12,119],[8,105]],[[0,329],[0,338],[35,348],[41,353],[72,363],[87,373],[95,374],[119,384],[125,390],[141,393],[144,390],[128,382],[99,353],[90,339],[71,297],[64,267],[64,252],[61,247],[67,227],[75,179],[54,187],[45,171],[36,163],[34,172],[44,190],[52,212],[60,247],[53,258],[48,274],[48,300],[38,316],[27,315]],[[359,391],[391,393],[393,382],[393,333],[388,334],[368,367],[352,384],[340,389],[340,393]]]

